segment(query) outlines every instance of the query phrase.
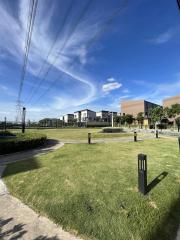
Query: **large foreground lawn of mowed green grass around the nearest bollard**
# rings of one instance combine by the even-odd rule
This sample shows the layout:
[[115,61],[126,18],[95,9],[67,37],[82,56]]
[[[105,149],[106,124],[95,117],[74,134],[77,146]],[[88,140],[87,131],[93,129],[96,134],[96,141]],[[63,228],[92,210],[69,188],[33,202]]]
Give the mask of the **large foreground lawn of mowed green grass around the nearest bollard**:
[[[137,191],[137,154],[148,156],[147,196]],[[171,240],[180,223],[177,141],[68,144],[7,167],[10,192],[84,239]]]

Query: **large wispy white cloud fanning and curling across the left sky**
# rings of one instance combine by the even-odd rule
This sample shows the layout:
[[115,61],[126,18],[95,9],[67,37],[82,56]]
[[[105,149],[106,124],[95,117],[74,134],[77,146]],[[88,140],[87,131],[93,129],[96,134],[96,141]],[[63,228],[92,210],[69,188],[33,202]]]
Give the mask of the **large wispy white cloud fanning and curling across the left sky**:
[[[47,57],[47,52],[54,41],[55,32],[52,32],[51,27],[54,21],[53,17],[57,13],[57,2],[52,4],[51,1],[47,1],[47,4],[43,4],[42,1],[39,1],[38,3],[28,62],[28,71],[33,75],[39,73],[42,63]],[[2,58],[6,57],[21,65],[27,30],[29,1],[19,0],[18,3],[17,14],[13,14],[5,2],[0,3],[0,46],[3,47],[3,53],[5,53],[0,55],[0,61],[3,62],[4,59]],[[48,17],[44,18],[45,12],[47,13],[47,5]],[[84,5],[83,3],[82,7]],[[92,11],[87,11],[85,12],[85,17],[79,21],[77,26],[74,27],[74,31],[72,31],[73,24],[77,21],[77,16],[81,15],[81,9],[77,9],[77,11],[69,14],[66,24],[62,26],[62,32],[45,66],[47,68],[48,64],[54,64],[53,69],[56,69],[56,75],[58,73],[60,75],[58,82],[62,78],[62,72],[65,77],[70,76],[73,81],[77,81],[79,98],[76,100],[76,104],[81,105],[89,103],[96,97],[97,89],[93,78],[87,72],[82,74],[80,70],[81,66],[89,63],[89,59],[91,59],[89,47],[91,47],[93,40],[96,40],[95,36],[97,33],[101,32],[104,20],[107,19],[109,13],[108,11],[103,11],[103,14],[94,14]],[[65,14],[65,10],[62,14]],[[60,14],[58,13],[58,15]],[[43,74],[44,72],[45,69],[43,69]],[[41,73],[41,77],[43,74]],[[119,84],[115,85],[109,86],[109,90],[112,90],[113,87],[120,87]],[[27,87],[28,85],[26,85]],[[40,90],[43,90],[43,88],[44,86]],[[80,94],[80,92],[86,94]],[[55,97],[56,100],[54,100]],[[58,98],[58,96],[52,96],[52,105],[56,105],[55,102],[57,102]],[[69,96],[64,94],[63,100],[66,102],[66,107],[72,105],[72,99],[69,99]]]

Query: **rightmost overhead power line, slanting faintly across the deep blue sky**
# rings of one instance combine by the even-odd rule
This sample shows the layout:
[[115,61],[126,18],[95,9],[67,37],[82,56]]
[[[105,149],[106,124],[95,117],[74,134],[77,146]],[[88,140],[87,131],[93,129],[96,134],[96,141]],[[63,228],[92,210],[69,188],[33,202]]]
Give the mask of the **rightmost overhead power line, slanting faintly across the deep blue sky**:
[[[93,43],[98,39],[99,36],[101,36],[103,33],[105,33],[105,31],[108,29],[108,26],[111,24],[111,22],[113,21],[113,19],[120,14],[120,12],[127,7],[128,4],[128,0],[125,0],[122,4],[121,7],[119,7],[118,9],[116,9],[115,11],[113,11],[113,13],[109,16],[109,18],[105,21],[104,27],[97,32],[94,37],[89,41],[89,43],[86,45],[87,48],[91,47],[91,45],[93,45]],[[69,68],[72,67],[73,63],[76,62],[76,60],[78,60],[78,56],[76,56],[73,60],[73,62],[70,64]],[[59,80],[59,78],[62,77],[62,75],[64,74],[64,72],[62,72],[60,74],[60,76],[58,76],[58,78],[56,78],[52,83],[50,83],[49,87],[40,95],[40,97],[36,100],[35,104],[39,102],[39,100],[41,98],[43,98],[47,92],[49,90],[51,90],[52,87],[54,87],[54,84]]]

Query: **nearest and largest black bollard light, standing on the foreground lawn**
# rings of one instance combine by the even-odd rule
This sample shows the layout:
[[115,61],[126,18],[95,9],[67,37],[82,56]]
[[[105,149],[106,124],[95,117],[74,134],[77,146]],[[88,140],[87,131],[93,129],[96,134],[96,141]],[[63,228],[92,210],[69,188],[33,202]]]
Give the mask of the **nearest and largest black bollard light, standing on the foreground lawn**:
[[138,154],[138,189],[143,195],[147,193],[147,156]]

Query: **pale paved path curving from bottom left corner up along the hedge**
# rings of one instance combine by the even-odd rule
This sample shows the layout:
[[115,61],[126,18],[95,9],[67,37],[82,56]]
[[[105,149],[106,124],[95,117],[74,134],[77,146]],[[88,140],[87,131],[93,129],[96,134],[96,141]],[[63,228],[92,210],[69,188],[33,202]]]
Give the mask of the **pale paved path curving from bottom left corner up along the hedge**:
[[41,148],[0,156],[0,239],[80,240],[11,196],[1,179],[6,164],[45,154],[63,145],[51,140]]

